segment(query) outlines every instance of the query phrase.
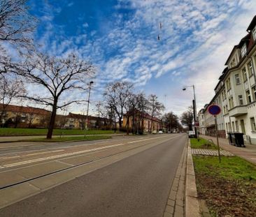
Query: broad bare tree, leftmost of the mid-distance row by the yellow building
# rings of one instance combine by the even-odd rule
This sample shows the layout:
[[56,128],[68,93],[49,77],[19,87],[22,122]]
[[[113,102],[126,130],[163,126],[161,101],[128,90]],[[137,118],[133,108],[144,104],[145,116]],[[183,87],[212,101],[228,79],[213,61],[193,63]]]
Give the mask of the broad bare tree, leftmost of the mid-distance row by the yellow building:
[[108,84],[104,92],[107,103],[113,108],[118,116],[119,127],[122,128],[122,118],[125,112],[125,105],[131,95],[133,84],[130,82],[115,82]]

